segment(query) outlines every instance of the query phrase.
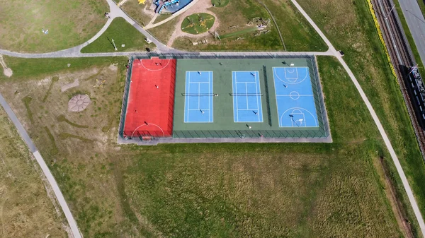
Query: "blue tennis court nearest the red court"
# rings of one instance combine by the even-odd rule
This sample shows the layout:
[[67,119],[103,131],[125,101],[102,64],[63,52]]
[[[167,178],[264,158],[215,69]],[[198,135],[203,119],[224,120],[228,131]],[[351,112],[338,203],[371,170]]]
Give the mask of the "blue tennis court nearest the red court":
[[184,122],[213,122],[212,71],[186,71]]

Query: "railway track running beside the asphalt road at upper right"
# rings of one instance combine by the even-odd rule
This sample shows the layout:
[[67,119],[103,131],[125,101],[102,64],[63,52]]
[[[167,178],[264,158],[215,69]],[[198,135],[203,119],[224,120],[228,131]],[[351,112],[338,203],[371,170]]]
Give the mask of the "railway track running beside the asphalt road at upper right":
[[397,11],[393,9],[393,1],[371,0],[371,2],[376,18],[378,18],[378,23],[380,24],[382,37],[390,54],[391,63],[395,68],[397,81],[404,97],[407,111],[409,112],[410,121],[416,134],[416,140],[418,141],[422,158],[425,160],[424,120],[421,119],[418,103],[412,100],[412,98],[415,98],[415,95],[412,86],[409,84],[409,69],[416,65],[416,61],[412,56],[412,49],[410,49],[409,42],[406,40]]

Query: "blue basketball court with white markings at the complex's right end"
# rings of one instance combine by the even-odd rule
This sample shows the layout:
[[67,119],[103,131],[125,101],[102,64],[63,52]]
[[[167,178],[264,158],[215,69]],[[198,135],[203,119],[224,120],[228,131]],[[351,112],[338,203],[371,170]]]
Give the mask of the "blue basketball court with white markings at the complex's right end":
[[273,67],[280,127],[318,127],[307,67]]

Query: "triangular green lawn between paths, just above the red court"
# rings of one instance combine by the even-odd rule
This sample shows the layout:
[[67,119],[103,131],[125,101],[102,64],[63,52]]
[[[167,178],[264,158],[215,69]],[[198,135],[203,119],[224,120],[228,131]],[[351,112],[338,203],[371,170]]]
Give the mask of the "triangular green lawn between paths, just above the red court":
[[[145,35],[142,35],[124,18],[115,18],[106,32],[81,49],[81,52],[115,52],[112,40],[114,40],[118,52],[145,51],[146,47],[154,47],[154,44],[147,44]],[[122,47],[122,44],[125,44],[125,47]]]

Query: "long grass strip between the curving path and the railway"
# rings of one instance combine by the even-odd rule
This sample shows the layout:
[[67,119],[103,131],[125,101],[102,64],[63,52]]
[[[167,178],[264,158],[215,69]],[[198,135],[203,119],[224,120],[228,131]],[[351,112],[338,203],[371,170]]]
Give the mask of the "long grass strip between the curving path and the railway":
[[[344,51],[344,60],[378,114],[409,179],[421,213],[425,215],[425,187],[421,186],[425,184],[424,161],[399,85],[392,76],[367,2],[300,0],[299,3],[319,28],[324,30],[324,34],[334,46]],[[392,173],[392,182],[396,184],[397,198],[404,204],[409,222],[417,228],[416,219],[392,160],[385,162]]]

